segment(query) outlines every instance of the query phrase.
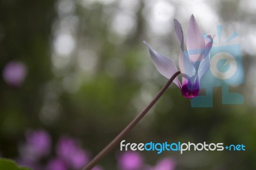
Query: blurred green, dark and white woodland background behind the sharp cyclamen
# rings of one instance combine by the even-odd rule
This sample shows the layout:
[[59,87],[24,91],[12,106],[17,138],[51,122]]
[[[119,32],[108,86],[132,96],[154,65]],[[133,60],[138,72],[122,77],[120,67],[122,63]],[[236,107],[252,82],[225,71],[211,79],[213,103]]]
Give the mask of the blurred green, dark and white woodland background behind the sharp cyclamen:
[[255,169],[253,0],[1,0],[1,157],[34,169],[83,167],[167,81],[143,40],[177,63],[172,20],[186,36],[192,13],[204,33],[217,35],[217,24],[223,37],[239,33],[244,83],[231,89],[244,104],[222,105],[221,88],[214,88],[212,108],[193,108],[172,85],[125,140],[243,143],[246,151],[157,155],[116,146],[97,169]]

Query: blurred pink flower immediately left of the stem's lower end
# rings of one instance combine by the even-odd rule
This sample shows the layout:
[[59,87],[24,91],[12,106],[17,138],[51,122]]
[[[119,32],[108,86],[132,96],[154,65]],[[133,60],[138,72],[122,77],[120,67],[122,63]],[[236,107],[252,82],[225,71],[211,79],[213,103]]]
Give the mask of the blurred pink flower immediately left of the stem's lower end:
[[72,169],[81,169],[81,167],[88,163],[86,151],[70,137],[61,137],[57,144],[56,153]]

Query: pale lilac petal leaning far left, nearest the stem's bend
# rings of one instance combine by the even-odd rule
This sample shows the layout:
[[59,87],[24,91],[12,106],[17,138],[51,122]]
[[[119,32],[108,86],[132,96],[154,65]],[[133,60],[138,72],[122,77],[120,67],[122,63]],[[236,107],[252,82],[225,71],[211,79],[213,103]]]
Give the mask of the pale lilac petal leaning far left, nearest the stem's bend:
[[[173,63],[172,59],[167,58],[166,56],[163,56],[163,54],[160,54],[159,52],[156,52],[156,50],[152,49],[147,42],[143,41],[143,43],[147,45],[152,61],[156,66],[156,69],[158,70],[158,72],[161,73],[161,75],[163,75],[167,79],[170,79],[172,75],[175,72],[177,72],[177,67]],[[173,82],[177,84],[179,88],[181,88],[179,79],[177,77],[174,79]]]

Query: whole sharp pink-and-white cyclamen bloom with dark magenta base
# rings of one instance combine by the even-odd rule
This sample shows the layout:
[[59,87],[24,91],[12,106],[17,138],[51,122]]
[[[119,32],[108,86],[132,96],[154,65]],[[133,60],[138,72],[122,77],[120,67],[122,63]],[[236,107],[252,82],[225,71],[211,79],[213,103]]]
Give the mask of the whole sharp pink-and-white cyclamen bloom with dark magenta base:
[[[173,20],[177,40],[180,43],[179,68],[182,73],[182,84],[176,77],[174,83],[180,88],[182,95],[186,98],[198,96],[200,90],[200,80],[210,68],[209,52],[212,48],[213,37],[211,35],[202,35],[194,15],[189,20],[186,45],[184,49],[184,36],[182,27],[178,20]],[[150,56],[159,73],[167,79],[177,72],[177,68],[172,59],[163,56],[153,50],[147,42]]]

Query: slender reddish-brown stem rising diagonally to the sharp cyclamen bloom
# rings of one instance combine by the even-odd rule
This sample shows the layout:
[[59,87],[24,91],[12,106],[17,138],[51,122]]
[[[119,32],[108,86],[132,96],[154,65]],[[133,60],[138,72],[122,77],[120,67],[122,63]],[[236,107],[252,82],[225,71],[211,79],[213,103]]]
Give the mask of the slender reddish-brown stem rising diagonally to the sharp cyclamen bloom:
[[111,141],[111,143],[109,143],[103,150],[101,150],[100,153],[98,153],[98,155],[96,155],[83,168],[83,170],[90,170],[90,169],[92,169],[100,161],[100,159],[102,157],[104,157],[109,151],[111,151],[116,146],[116,144],[118,144],[118,142],[120,142],[120,140],[124,137],[124,135],[126,135],[127,132],[129,132],[141,120],[141,118],[143,118],[143,116],[145,116],[145,114],[151,109],[151,107],[163,95],[164,91],[166,91],[166,89],[170,86],[170,84],[173,82],[175,77],[177,77],[177,75],[179,75],[179,74],[180,74],[180,71],[174,73],[172,75],[172,77],[169,79],[169,81],[166,82],[166,84],[161,89],[161,91],[159,91],[159,93],[156,95],[156,97],[152,100],[152,102],[150,102],[150,104],[148,104],[147,107],[145,107],[145,109],[143,109],[143,111],[141,111],[140,114],[138,114],[138,116],[136,116],[136,118],[134,118],[134,120],[132,120],[131,123],[129,125],[127,125],[127,127],[125,127],[124,130],[122,132],[120,132],[120,134],[118,134],[115,137],[115,139],[113,139],[113,141]]

